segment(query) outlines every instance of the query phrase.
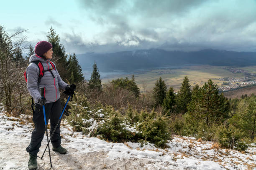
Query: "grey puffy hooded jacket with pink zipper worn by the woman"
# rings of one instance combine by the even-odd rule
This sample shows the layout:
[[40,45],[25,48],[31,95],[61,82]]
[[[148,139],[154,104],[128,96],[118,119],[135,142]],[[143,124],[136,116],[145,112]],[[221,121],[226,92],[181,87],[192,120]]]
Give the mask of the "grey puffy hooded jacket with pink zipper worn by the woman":
[[44,76],[41,78],[40,83],[38,83],[39,68],[35,63],[32,62],[36,60],[39,60],[42,63],[44,70],[51,69],[51,63],[49,62],[50,59],[44,60],[38,55],[31,55],[29,58],[30,64],[26,70],[28,91],[34,98],[35,102],[38,103],[38,99],[41,98],[39,87],[45,87],[45,98],[47,100],[46,103],[55,102],[60,98],[59,87],[64,90],[68,84],[61,80],[57,69],[52,70],[55,78],[51,75],[50,71],[46,71],[44,72]]

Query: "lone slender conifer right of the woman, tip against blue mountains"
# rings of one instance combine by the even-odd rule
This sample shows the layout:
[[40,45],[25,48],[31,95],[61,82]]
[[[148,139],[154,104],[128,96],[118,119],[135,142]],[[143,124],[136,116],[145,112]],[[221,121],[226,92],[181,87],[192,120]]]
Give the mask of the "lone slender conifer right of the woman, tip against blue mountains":
[[94,62],[94,65],[92,67],[93,67],[93,71],[92,71],[91,79],[89,80],[90,88],[101,90],[102,85],[100,80],[100,73],[98,71],[96,62]]

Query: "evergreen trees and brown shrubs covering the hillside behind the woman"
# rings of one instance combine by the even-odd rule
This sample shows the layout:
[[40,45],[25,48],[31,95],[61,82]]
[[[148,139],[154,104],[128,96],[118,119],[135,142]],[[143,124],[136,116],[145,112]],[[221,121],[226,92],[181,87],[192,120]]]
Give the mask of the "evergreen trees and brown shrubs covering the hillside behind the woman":
[[[20,38],[21,33],[8,35],[0,26],[0,103],[15,117],[32,112],[23,74],[33,54],[33,46],[28,47],[30,51],[26,56],[22,55],[26,38]],[[223,93],[219,94],[212,80],[191,89],[187,76],[177,94],[173,87],[167,89],[161,77],[153,90],[141,93],[134,76],[102,85],[96,62],[87,82],[75,53],[66,54],[53,28],[46,40],[53,45],[53,62],[62,79],[77,85],[76,95],[64,117],[72,125],[73,132],[82,131],[115,142],[149,142],[163,148],[172,135],[193,136],[239,151],[245,151],[248,145],[256,142],[254,94],[229,100]],[[66,98],[61,94],[62,105]],[[99,116],[97,110],[106,114]],[[97,128],[90,128],[94,122],[101,123]]]

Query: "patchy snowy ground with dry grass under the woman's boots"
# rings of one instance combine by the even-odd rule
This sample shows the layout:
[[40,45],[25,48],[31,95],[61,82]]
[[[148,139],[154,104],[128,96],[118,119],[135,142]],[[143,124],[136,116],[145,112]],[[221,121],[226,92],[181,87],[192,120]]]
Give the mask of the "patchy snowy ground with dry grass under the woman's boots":
[[[0,113],[0,170],[26,170],[33,125],[22,118]],[[42,120],[44,121],[44,120]],[[38,158],[39,170],[247,170],[256,167],[256,148],[246,153],[234,150],[216,151],[210,142],[197,142],[195,138],[173,136],[169,148],[159,149],[153,144],[109,143],[98,138],[87,138],[82,133],[72,135],[72,127],[61,123],[62,145],[69,151],[62,155],[51,151],[43,160]],[[46,147],[42,142],[39,156]],[[51,145],[50,145],[51,146]],[[256,168],[254,168],[256,170]]]

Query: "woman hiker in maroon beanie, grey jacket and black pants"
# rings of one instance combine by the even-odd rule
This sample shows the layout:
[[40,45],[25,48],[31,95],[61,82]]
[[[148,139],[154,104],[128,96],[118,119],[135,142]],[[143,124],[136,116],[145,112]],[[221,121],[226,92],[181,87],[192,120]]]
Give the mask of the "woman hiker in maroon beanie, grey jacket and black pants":
[[[60,103],[60,92],[59,88],[66,90],[67,95],[72,95],[75,90],[75,85],[68,85],[66,82],[61,80],[59,72],[53,62],[50,62],[52,58],[52,45],[47,41],[40,41],[35,46],[35,53],[29,58],[30,64],[26,69],[26,78],[28,91],[35,100],[35,110],[33,112],[33,122],[35,129],[31,135],[31,142],[26,148],[29,153],[28,168],[37,168],[37,153],[41,146],[41,142],[44,138],[45,123],[44,113],[42,105],[45,105],[46,122],[50,119],[51,130],[50,134],[54,130],[59,117],[61,115],[61,103]],[[43,66],[44,74],[40,77],[39,74],[42,69],[39,69],[38,61]],[[41,72],[42,73],[42,72]],[[44,98],[41,97],[39,87],[44,87]],[[60,123],[57,126],[54,135],[51,139],[52,150],[65,154],[67,150],[61,147],[61,136],[59,134]]]

